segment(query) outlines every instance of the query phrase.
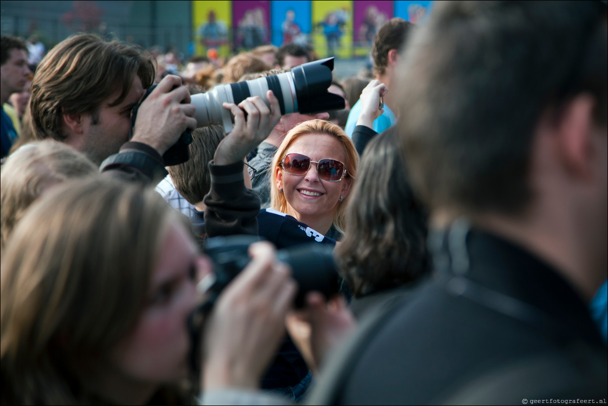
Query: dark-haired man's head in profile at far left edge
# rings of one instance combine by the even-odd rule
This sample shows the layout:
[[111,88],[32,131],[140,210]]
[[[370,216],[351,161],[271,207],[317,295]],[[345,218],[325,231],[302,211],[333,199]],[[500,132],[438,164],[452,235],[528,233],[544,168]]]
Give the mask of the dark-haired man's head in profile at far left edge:
[[0,38],[0,104],[4,104],[12,93],[22,92],[27,84],[27,75],[32,73],[27,66],[27,46],[21,38],[2,35]]

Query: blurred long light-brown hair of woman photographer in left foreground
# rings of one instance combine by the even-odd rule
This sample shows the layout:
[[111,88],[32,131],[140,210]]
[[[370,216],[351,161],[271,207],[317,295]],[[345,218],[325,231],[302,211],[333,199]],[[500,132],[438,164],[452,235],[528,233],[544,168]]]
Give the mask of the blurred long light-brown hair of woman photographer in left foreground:
[[147,302],[173,216],[152,189],[105,178],[30,207],[2,256],[2,404],[108,402],[95,376]]

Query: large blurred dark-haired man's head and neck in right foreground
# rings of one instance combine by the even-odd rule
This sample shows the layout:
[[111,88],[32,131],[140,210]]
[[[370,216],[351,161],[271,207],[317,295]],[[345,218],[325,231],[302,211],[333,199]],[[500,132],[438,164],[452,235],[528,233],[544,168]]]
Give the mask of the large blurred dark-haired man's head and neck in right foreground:
[[606,4],[445,2],[399,66],[412,181],[590,298],[608,266]]

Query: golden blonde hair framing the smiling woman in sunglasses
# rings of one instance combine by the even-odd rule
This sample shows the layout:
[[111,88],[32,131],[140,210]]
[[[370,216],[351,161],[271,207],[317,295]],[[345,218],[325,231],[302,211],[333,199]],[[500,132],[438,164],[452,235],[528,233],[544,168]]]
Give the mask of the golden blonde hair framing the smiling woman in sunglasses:
[[[359,155],[357,150],[354,148],[353,141],[346,135],[344,130],[340,128],[338,125],[333,124],[332,122],[325,120],[309,120],[302,122],[296,125],[291,129],[285,136],[285,139],[281,143],[280,147],[278,147],[277,152],[272,159],[271,166],[271,208],[278,210],[280,212],[286,213],[288,203],[285,198],[285,195],[279,193],[277,188],[277,167],[285,158],[286,151],[289,149],[289,146],[298,138],[303,135],[308,134],[325,134],[331,135],[335,137],[340,144],[342,144],[342,149],[344,150],[344,155],[346,156],[346,165],[347,175],[352,179],[352,181],[357,178],[357,167],[359,165]],[[345,178],[346,178],[345,177]],[[336,210],[334,211],[333,218],[333,226],[342,234],[344,234],[346,228],[346,220],[345,220],[345,207],[350,200],[350,194],[348,194],[343,201],[339,201],[336,206]]]

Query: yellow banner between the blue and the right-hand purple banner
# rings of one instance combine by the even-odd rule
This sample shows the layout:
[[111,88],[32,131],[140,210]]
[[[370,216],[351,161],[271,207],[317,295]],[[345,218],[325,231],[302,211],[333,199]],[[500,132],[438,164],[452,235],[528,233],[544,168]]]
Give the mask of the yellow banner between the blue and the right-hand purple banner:
[[313,46],[319,57],[353,56],[353,1],[313,0]]

